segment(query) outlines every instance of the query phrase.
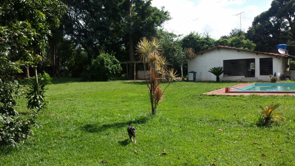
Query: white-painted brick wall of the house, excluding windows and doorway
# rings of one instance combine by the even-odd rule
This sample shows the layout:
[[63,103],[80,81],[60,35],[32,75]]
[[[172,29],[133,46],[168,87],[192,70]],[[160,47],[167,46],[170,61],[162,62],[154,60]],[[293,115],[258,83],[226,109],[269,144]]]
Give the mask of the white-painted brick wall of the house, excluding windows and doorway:
[[[188,71],[195,71],[196,81],[216,81],[216,76],[209,71],[212,67],[223,66],[223,60],[231,59],[248,59],[255,58],[255,77],[258,81],[270,81],[269,76],[260,76],[259,58],[273,58],[273,74],[276,72],[277,76],[283,74],[285,71],[285,58],[251,53],[247,51],[237,51],[231,49],[217,48],[198,54],[196,58],[188,61]],[[244,76],[231,76],[223,77],[223,74],[219,76],[223,81],[237,81]]]

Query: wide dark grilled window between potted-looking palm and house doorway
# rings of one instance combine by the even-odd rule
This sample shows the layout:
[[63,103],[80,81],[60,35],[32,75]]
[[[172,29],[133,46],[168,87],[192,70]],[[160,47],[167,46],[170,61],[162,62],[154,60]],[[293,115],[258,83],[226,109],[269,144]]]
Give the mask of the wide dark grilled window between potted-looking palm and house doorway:
[[223,61],[224,76],[245,76],[245,59]]

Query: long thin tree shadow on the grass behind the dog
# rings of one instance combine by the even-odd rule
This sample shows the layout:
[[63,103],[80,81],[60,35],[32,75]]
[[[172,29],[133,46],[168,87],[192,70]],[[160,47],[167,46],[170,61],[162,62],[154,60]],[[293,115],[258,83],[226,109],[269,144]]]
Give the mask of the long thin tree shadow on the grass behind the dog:
[[[150,119],[150,115],[141,116],[140,118],[133,120],[132,124],[136,125],[136,124],[146,123],[149,119]],[[122,127],[126,127],[126,130],[127,130],[129,122],[130,121],[124,121],[124,122],[110,123],[110,124],[104,124],[104,125],[100,125],[98,123],[92,122],[82,126],[81,130],[87,131],[87,132],[101,132],[110,128],[122,128]]]

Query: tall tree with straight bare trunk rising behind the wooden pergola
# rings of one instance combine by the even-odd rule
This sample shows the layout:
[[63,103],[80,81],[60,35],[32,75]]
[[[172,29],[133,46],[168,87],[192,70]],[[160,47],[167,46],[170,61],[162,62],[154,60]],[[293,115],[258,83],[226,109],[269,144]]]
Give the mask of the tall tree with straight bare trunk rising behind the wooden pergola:
[[[158,9],[151,6],[151,0],[126,0],[124,5],[124,33],[128,40],[125,40],[125,47],[128,48],[129,61],[134,60],[134,45],[142,37],[152,38],[155,36],[158,27],[165,21],[171,19],[169,12],[164,7]],[[133,72],[130,64],[130,75]]]

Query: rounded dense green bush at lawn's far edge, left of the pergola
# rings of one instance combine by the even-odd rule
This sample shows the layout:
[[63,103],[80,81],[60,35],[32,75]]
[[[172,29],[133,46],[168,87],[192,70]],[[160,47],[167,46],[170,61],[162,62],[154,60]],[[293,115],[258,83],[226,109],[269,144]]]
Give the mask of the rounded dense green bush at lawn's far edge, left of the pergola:
[[122,68],[114,55],[101,53],[91,64],[84,66],[81,79],[83,81],[107,81],[119,76]]

